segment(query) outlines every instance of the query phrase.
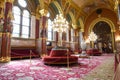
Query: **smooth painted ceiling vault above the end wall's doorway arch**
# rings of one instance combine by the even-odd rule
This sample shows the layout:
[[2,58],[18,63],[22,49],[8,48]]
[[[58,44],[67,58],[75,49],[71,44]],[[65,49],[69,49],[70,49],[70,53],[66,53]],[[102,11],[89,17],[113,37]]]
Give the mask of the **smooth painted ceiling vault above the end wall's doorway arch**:
[[114,10],[115,0],[72,0],[86,14],[89,14],[96,8],[107,8]]

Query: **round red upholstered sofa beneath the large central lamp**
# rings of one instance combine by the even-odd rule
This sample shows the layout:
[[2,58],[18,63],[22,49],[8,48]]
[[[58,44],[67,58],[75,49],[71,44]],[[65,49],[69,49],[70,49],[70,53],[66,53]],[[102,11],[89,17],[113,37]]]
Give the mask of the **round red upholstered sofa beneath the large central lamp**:
[[78,57],[71,56],[67,48],[53,48],[50,52],[49,56],[43,57],[43,62],[45,64],[67,64],[67,60],[69,59],[69,64],[77,63]]

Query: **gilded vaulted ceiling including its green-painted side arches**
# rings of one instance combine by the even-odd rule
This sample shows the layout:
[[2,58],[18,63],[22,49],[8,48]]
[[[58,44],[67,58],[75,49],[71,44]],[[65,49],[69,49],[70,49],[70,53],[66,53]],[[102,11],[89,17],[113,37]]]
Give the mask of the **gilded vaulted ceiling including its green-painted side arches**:
[[[110,13],[115,13],[116,4],[119,0],[31,0],[34,2],[36,9],[47,9],[51,14],[51,19],[54,19],[56,14],[63,12],[73,28],[76,26],[83,26],[83,23],[89,15],[96,12],[98,9],[108,10]],[[35,9],[32,9],[35,10]]]

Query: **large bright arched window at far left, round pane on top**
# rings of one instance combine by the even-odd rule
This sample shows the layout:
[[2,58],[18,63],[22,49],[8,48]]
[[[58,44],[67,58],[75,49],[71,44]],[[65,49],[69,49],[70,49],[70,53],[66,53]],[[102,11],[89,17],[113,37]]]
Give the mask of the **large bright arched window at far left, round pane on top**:
[[30,13],[27,10],[25,0],[18,0],[18,4],[13,7],[13,37],[30,37]]

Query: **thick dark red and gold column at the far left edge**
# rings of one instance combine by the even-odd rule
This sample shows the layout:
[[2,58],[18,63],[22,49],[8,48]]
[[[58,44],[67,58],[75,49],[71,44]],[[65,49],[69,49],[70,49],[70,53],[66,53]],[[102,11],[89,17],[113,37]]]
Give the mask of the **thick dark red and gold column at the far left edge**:
[[4,24],[2,32],[0,62],[8,62],[11,57],[11,32],[12,32],[12,4],[14,0],[6,0],[4,8]]

